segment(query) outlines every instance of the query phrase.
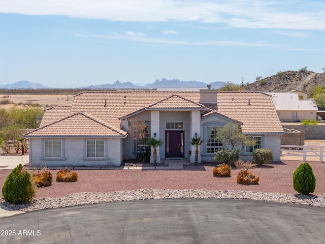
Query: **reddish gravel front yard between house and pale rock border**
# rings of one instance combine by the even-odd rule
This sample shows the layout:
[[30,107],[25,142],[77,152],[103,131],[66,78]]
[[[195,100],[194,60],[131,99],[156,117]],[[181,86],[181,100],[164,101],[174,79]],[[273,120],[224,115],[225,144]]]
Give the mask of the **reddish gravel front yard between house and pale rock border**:
[[[263,167],[253,168],[259,177],[258,185],[244,186],[237,184],[238,169],[232,170],[232,177],[213,177],[213,164],[184,166],[179,170],[74,170],[78,173],[77,182],[56,182],[57,170],[51,170],[52,186],[38,188],[36,198],[62,197],[79,192],[114,192],[152,189],[204,189],[204,190],[245,190],[254,192],[277,192],[296,194],[293,187],[293,174],[302,161],[280,161]],[[325,163],[309,162],[316,177],[316,189],[313,194],[325,194]],[[0,170],[0,187],[11,170]]]

